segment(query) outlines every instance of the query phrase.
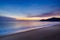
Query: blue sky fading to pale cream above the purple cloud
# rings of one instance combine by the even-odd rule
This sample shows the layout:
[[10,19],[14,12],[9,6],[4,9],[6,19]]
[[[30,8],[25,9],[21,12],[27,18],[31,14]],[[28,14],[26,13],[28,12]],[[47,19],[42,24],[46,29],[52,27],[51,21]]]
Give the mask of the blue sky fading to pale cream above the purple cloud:
[[0,0],[0,16],[21,18],[59,9],[58,0]]

